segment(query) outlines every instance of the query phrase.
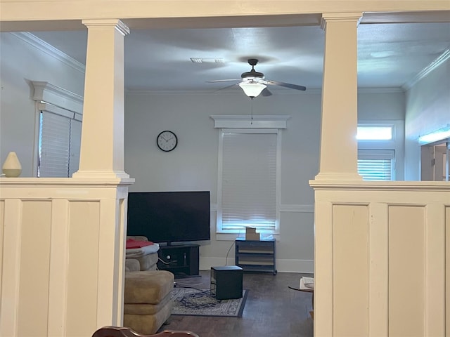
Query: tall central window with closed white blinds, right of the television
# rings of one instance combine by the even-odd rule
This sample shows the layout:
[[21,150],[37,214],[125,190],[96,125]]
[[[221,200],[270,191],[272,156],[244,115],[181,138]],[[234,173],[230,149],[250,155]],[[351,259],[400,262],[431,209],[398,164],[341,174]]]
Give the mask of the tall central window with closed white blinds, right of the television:
[[217,232],[278,232],[277,130],[222,131]]

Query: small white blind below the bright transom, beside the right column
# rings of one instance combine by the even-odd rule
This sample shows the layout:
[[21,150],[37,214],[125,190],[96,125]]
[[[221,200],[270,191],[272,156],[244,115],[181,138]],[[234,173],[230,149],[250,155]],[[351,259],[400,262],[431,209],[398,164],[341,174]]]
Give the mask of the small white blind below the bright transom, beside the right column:
[[394,150],[359,150],[358,173],[363,180],[394,180]]

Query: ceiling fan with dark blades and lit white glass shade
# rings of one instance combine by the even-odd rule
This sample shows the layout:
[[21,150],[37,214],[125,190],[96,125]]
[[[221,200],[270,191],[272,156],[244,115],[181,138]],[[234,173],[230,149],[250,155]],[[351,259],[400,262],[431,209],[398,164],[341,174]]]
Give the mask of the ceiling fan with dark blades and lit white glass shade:
[[[243,72],[240,75],[240,79],[216,79],[213,81],[207,81],[208,83],[216,82],[229,82],[229,81],[239,81],[238,86],[243,89],[245,95],[248,95],[251,99],[257,97],[259,94],[263,96],[270,96],[272,93],[269,91],[267,86],[283,86],[285,88],[295,89],[305,91],[307,88],[305,86],[299,86],[297,84],[290,84],[280,81],[272,81],[270,79],[264,79],[264,74],[262,72],[257,72],[255,70],[255,65],[257,65],[258,60],[256,58],[250,58],[248,64],[252,66],[250,72]],[[233,84],[232,86],[235,86]],[[228,88],[228,87],[226,87]]]

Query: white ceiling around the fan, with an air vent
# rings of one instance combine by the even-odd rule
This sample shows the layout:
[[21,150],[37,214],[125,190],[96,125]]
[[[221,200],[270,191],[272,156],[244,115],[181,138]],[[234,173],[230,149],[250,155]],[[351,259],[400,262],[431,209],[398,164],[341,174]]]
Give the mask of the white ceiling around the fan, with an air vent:
[[[33,34],[85,64],[86,31]],[[255,68],[266,79],[321,88],[324,38],[317,25],[132,29],[125,37],[125,86],[127,91],[214,92],[233,82],[206,81],[240,79],[242,72],[250,70],[247,59],[257,58]],[[408,86],[437,58],[449,57],[449,48],[450,22],[359,25],[359,87]],[[224,62],[196,64],[190,58]]]

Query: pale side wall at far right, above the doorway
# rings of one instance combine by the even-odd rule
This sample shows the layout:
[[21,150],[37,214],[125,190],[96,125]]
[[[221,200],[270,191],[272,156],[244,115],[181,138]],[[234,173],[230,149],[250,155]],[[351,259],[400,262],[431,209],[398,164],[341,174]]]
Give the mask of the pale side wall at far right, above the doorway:
[[405,180],[420,180],[419,136],[450,124],[450,59],[406,91]]

